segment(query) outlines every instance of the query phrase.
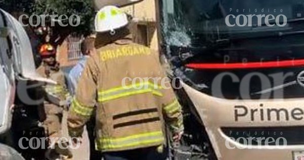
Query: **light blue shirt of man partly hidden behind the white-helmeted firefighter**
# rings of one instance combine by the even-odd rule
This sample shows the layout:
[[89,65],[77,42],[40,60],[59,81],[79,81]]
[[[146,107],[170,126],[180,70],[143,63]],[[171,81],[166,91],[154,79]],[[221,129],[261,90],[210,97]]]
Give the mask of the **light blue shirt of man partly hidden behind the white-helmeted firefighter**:
[[69,90],[72,95],[75,94],[77,89],[78,80],[81,77],[82,71],[85,69],[86,61],[89,56],[83,56],[69,72],[68,81],[69,81]]

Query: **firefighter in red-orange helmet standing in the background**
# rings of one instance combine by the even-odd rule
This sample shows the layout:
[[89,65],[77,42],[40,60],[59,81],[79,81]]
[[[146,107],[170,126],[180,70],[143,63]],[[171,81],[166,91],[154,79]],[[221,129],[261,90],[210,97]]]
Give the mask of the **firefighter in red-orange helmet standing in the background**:
[[[57,85],[47,84],[38,91],[40,96],[44,98],[43,111],[45,118],[43,125],[47,135],[49,135],[50,148],[46,153],[48,159],[62,159],[71,158],[71,152],[66,148],[66,143],[61,143],[59,146],[59,139],[61,138],[61,120],[63,106],[60,106],[61,101],[65,101],[68,92],[65,86],[65,78],[63,72],[59,68],[59,63],[56,61],[55,47],[49,43],[43,44],[40,47],[39,53],[42,58],[42,64],[37,68],[37,73],[45,78],[49,78],[57,82]],[[55,99],[51,100],[50,95],[54,95]],[[56,102],[55,102],[56,101]],[[53,146],[52,146],[53,145]]]

